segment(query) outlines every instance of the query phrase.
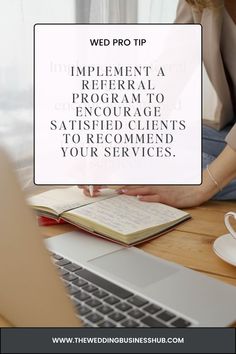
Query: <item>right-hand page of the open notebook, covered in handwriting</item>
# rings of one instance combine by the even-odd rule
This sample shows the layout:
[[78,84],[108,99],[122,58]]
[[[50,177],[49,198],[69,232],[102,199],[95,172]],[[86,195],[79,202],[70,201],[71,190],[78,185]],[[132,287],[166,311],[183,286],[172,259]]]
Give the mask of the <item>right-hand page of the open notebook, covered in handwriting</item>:
[[160,203],[145,203],[136,197],[120,195],[100,203],[75,209],[78,215],[124,235],[180,219],[188,213]]

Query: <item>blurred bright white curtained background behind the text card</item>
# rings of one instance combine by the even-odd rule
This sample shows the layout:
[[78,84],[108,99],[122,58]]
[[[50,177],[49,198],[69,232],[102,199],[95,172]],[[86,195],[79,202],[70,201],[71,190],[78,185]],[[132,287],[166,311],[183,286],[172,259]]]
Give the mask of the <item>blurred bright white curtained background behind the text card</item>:
[[[33,25],[171,23],[178,0],[0,0],[0,144],[33,188]],[[1,168],[1,167],[0,167]]]

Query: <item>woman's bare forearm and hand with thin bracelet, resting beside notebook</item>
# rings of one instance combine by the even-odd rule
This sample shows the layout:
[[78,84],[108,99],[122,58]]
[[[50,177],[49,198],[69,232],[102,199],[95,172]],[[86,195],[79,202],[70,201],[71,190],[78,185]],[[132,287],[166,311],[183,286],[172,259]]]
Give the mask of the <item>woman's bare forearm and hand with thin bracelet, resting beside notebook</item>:
[[141,201],[161,202],[174,207],[193,207],[213,197],[236,177],[236,150],[229,145],[203,172],[200,186],[126,186],[120,192]]

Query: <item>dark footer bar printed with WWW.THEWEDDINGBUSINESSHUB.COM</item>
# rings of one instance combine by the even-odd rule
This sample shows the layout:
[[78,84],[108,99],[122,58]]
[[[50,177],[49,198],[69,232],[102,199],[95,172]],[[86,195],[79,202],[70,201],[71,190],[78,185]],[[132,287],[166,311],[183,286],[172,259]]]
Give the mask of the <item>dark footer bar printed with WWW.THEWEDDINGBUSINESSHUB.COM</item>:
[[2,328],[1,353],[235,353],[235,329]]

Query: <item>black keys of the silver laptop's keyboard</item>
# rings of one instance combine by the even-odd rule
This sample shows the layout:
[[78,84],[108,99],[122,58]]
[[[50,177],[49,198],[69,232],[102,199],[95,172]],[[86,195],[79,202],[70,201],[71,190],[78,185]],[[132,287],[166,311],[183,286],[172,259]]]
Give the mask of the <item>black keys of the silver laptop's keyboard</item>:
[[86,327],[189,327],[191,322],[78,264],[52,254]]

